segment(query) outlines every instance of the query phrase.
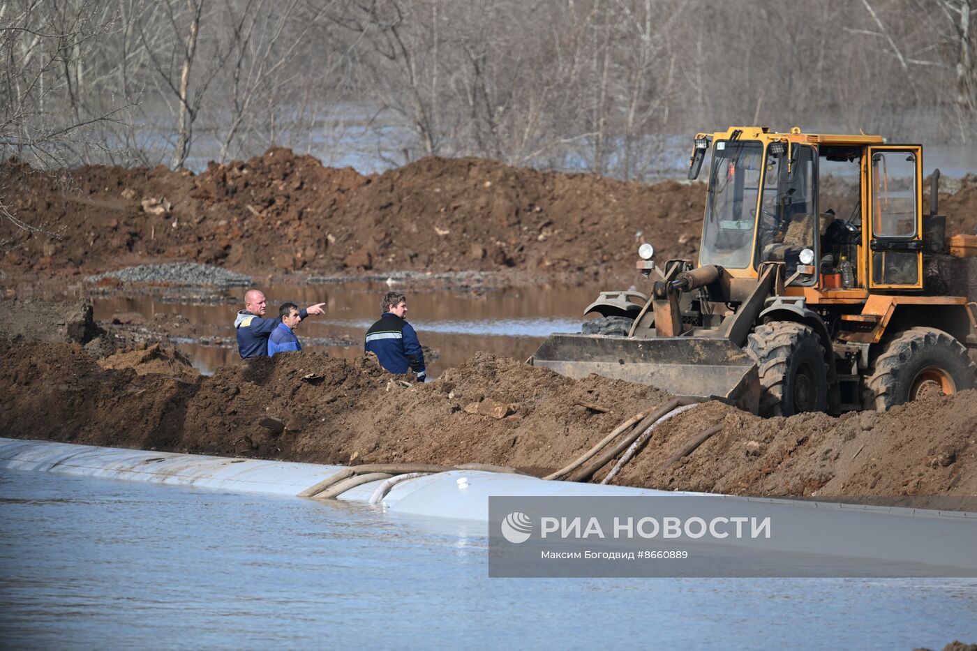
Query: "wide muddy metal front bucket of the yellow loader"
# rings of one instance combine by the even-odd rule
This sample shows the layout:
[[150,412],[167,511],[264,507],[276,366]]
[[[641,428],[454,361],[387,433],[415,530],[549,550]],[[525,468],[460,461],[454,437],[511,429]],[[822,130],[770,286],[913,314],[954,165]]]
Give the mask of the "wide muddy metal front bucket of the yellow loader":
[[675,396],[721,400],[752,413],[759,409],[756,365],[724,338],[552,334],[530,364],[570,377],[597,373],[650,384]]

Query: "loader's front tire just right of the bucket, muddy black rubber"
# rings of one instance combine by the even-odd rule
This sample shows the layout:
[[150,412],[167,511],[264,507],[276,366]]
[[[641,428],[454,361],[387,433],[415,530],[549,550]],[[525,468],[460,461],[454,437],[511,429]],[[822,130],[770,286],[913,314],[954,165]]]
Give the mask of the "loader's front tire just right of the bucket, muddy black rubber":
[[760,415],[793,415],[828,410],[828,364],[814,329],[775,321],[758,325],[746,354],[760,373]]

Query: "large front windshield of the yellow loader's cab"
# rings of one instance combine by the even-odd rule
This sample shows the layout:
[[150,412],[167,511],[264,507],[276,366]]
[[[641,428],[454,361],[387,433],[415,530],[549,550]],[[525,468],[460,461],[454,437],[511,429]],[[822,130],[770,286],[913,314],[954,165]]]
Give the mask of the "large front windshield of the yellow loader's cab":
[[753,227],[763,169],[763,145],[720,140],[712,148],[702,265],[746,269],[753,260]]

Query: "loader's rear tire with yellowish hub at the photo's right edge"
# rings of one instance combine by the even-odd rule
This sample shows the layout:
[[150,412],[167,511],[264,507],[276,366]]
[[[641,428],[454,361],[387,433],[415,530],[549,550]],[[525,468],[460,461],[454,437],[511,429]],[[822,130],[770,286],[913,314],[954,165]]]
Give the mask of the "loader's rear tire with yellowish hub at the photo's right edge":
[[865,380],[862,406],[884,412],[928,395],[951,395],[977,386],[977,365],[953,336],[935,327],[912,327],[891,339]]

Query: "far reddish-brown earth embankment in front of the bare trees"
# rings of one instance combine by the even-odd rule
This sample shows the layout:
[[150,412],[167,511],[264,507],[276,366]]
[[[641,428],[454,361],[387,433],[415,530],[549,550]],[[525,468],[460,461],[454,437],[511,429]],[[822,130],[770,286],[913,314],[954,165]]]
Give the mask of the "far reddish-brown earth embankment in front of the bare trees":
[[[949,233],[977,226],[977,179],[946,185]],[[637,244],[694,258],[701,183],[620,182],[428,157],[363,176],[273,148],[206,171],[101,165],[40,172],[0,164],[4,204],[32,235],[0,220],[8,275],[89,274],[148,260],[246,274],[501,272],[516,282],[634,282]]]

